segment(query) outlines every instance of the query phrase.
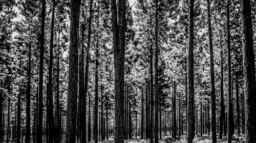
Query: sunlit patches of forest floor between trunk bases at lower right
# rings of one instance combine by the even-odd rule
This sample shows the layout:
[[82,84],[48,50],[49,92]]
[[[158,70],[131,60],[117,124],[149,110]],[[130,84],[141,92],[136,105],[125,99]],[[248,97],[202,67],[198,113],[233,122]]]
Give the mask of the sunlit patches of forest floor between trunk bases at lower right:
[[[110,140],[106,140],[106,141],[103,141],[102,143],[112,143],[114,142],[113,141],[113,138],[111,138]],[[124,141],[125,143],[139,143],[139,142],[142,142],[142,143],[148,143],[150,142],[150,140],[146,140],[146,139],[131,139],[131,140],[125,140]],[[159,143],[186,143],[186,138],[184,135],[181,136],[181,138],[178,138],[176,140],[174,140],[172,137],[163,137],[162,140],[159,140]],[[200,135],[196,135],[195,139],[193,142],[198,142],[198,143],[211,143],[211,136],[208,136],[208,135],[203,135],[203,137],[200,137]],[[217,136],[217,142],[218,143],[226,143],[227,142],[227,136],[223,136],[222,139],[219,139],[218,136]],[[245,136],[244,135],[240,135],[238,136],[237,134],[234,134],[233,137],[232,137],[232,143],[237,143],[237,142],[240,142],[240,143],[243,143],[245,142]]]

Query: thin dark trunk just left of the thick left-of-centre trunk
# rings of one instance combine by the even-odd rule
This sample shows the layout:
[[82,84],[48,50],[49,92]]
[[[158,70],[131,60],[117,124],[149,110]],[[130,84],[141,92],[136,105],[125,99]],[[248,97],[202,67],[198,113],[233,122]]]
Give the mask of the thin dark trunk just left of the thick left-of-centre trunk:
[[[58,27],[59,28],[59,27]],[[59,30],[60,33],[60,30]],[[59,44],[59,33],[58,33],[58,44]],[[59,45],[57,52],[57,77],[56,77],[56,142],[59,143],[61,141],[61,119],[60,119],[60,104],[59,104]]]

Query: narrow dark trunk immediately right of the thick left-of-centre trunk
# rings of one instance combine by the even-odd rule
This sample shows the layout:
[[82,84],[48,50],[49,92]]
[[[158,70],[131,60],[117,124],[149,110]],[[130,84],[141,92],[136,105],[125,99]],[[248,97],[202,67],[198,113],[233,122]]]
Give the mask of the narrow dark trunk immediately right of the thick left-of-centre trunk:
[[[84,5],[84,4],[83,4]],[[82,9],[82,17],[84,16],[84,9]],[[81,25],[81,41],[84,42],[85,20]],[[86,143],[86,93],[84,92],[84,45],[81,44],[81,53],[79,58],[79,124],[80,124],[80,142]]]

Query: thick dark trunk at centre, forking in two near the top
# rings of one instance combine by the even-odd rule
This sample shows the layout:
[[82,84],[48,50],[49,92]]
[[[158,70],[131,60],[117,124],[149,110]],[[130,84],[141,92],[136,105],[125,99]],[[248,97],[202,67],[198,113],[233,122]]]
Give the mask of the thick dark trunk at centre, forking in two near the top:
[[124,119],[124,54],[125,54],[125,0],[111,0],[115,69],[115,130],[114,142],[123,143]]

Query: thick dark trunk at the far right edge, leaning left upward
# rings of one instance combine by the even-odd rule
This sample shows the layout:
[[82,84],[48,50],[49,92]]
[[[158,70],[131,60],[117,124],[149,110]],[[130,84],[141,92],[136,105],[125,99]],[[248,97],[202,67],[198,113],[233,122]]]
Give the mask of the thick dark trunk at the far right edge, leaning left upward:
[[244,95],[245,95],[245,134],[246,142],[256,142],[256,89],[255,63],[253,52],[253,28],[250,1],[242,1],[242,41],[244,67]]

